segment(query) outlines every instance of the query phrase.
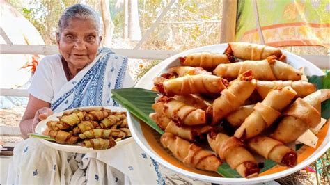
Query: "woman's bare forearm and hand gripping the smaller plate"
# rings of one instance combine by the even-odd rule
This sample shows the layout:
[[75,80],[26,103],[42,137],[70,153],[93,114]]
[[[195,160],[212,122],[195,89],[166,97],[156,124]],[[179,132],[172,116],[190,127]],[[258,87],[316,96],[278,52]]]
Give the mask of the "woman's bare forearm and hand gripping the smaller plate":
[[28,133],[34,132],[34,128],[40,120],[45,120],[48,115],[53,113],[52,109],[49,107],[49,102],[45,102],[34,97],[33,95],[30,95],[24,115],[19,123],[19,128],[21,129],[22,137],[24,139],[29,137],[27,136]]

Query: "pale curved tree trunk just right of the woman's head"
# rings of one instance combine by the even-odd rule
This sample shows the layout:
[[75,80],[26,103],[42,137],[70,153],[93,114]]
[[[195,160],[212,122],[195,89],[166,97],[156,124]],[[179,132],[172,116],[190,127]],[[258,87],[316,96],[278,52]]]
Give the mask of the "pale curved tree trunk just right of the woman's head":
[[115,25],[110,15],[109,0],[101,0],[102,20],[104,35],[102,40],[103,47],[110,47]]

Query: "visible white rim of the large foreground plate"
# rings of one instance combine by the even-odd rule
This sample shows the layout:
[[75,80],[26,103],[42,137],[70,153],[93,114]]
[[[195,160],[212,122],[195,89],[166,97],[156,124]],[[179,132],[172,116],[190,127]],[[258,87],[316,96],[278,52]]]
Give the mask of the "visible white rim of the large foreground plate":
[[[153,83],[152,79],[159,76],[159,74],[162,74],[163,72],[166,72],[169,67],[180,65],[180,62],[178,58],[180,56],[187,56],[189,53],[195,53],[195,52],[201,52],[201,51],[208,51],[208,52],[214,52],[214,53],[223,53],[223,51],[226,49],[228,44],[221,44],[221,45],[210,45],[206,47],[199,47],[196,49],[191,49],[188,51],[184,51],[180,54],[176,54],[175,56],[171,56],[170,58],[167,58],[166,60],[162,61],[155,67],[152,67],[151,70],[149,70],[142,78],[141,80],[136,83],[136,88],[145,88],[145,89],[152,89]],[[294,55],[289,53],[288,51],[283,51],[283,54],[287,56],[286,62],[290,65],[292,65],[294,68],[299,69],[300,67],[304,67],[304,71],[306,75],[324,75],[322,70],[317,68],[312,63],[306,61],[304,58],[301,58],[300,56]],[[183,168],[179,168],[178,165],[173,165],[173,160],[169,162],[167,157],[164,157],[164,154],[159,154],[155,150],[155,146],[150,145],[150,137],[147,139],[146,136],[148,134],[152,134],[151,131],[146,131],[146,127],[143,126],[140,121],[134,117],[132,114],[127,112],[127,122],[129,124],[129,129],[132,132],[132,136],[134,137],[134,140],[136,143],[139,144],[139,146],[148,153],[153,159],[155,159],[157,162],[161,163],[163,166],[166,166],[166,168],[169,168],[175,172],[178,172],[182,175],[185,175],[187,177],[191,177],[193,179],[199,179],[205,182],[214,182],[214,183],[244,183],[244,184],[251,184],[251,183],[259,183],[259,182],[267,182],[272,179],[278,179],[280,177],[284,177],[287,175],[292,174],[293,172],[297,172],[298,170],[301,170],[305,166],[308,166],[310,163],[315,161],[319,156],[321,156],[328,148],[329,148],[329,131],[326,132],[324,139],[320,140],[320,145],[317,147],[317,149],[311,154],[308,154],[308,156],[304,157],[303,161],[298,161],[297,166],[294,168],[288,168],[285,170],[279,170],[279,172],[272,172],[267,175],[262,175],[256,178],[251,179],[245,179],[245,178],[224,178],[224,177],[214,177],[210,175],[203,175],[198,172],[191,172],[191,170],[185,170]],[[155,143],[154,143],[155,144]],[[171,154],[168,153],[168,156]],[[178,163],[180,163],[178,161]]]

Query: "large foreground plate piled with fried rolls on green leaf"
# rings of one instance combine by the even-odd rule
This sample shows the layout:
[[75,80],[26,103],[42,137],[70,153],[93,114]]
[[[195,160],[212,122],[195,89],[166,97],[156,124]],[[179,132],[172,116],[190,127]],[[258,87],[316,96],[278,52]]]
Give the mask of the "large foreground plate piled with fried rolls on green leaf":
[[[329,148],[321,104],[330,90],[308,82],[313,75],[324,72],[288,51],[230,42],[171,56],[135,88],[112,92],[157,162],[205,182],[249,184],[290,175]],[[296,143],[307,132],[313,147]]]

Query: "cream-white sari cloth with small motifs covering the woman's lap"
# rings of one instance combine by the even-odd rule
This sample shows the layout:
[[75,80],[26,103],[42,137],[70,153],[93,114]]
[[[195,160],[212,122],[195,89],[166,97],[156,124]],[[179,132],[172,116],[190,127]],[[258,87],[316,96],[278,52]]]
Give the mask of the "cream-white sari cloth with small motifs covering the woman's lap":
[[18,143],[8,184],[164,184],[158,165],[134,140],[97,153],[55,150],[37,138]]

